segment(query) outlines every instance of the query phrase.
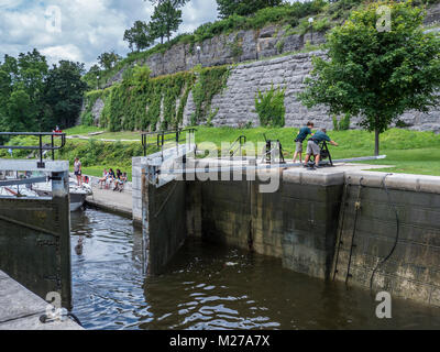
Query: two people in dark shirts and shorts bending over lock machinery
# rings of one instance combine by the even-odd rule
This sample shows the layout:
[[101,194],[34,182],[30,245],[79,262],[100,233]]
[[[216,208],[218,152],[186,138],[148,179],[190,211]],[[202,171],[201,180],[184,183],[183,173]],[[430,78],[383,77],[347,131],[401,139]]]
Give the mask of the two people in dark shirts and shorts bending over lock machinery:
[[319,146],[319,143],[326,141],[326,142],[329,142],[331,145],[334,145],[334,146],[339,145],[337,142],[332,141],[327,135],[326,129],[321,129],[314,133],[311,131],[314,129],[314,127],[315,127],[314,122],[308,122],[306,127],[304,127],[299,130],[298,135],[295,140],[296,150],[295,150],[295,154],[294,154],[294,163],[296,163],[296,160],[298,158],[298,156],[299,156],[299,162],[302,163],[302,143],[307,139],[308,135],[311,135],[311,138],[307,142],[306,160],[304,161],[305,167],[308,167],[311,155],[315,156],[315,167],[320,167],[319,161],[321,158],[321,147]]

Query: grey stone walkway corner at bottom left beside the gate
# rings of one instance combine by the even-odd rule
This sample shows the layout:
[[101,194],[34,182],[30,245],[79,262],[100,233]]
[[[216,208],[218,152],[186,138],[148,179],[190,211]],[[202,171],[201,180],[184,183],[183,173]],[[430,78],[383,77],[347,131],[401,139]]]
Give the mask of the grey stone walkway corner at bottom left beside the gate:
[[47,302],[0,271],[0,330],[84,330],[70,319],[42,323]]

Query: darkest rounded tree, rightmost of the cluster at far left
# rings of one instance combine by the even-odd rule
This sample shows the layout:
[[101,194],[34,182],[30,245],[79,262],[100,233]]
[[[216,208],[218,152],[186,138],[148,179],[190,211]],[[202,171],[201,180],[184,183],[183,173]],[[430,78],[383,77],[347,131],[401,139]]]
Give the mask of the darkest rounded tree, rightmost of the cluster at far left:
[[45,116],[46,129],[75,125],[87,89],[87,84],[81,80],[84,73],[84,64],[68,61],[61,61],[58,66],[54,65],[48,72],[44,98],[52,116]]

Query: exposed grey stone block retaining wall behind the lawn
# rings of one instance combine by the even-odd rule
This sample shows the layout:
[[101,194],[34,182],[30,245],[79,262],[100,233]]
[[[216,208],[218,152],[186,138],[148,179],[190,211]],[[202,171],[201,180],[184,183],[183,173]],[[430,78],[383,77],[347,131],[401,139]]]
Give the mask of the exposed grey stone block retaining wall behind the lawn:
[[[286,127],[300,127],[314,121],[319,128],[333,129],[332,117],[324,107],[307,109],[297,95],[304,89],[304,80],[309,75],[314,56],[326,57],[326,53],[294,54],[249,64],[241,64],[232,69],[227,88],[212,100],[211,110],[217,111],[212,123],[216,127],[244,127],[252,122],[260,125],[255,112],[255,96],[258,90],[266,91],[272,85],[285,89]],[[189,124],[195,112],[193,96],[184,113],[184,124]],[[408,129],[416,131],[440,132],[440,107],[429,113],[409,111],[399,118]],[[359,129],[359,118],[351,120],[351,128]]]

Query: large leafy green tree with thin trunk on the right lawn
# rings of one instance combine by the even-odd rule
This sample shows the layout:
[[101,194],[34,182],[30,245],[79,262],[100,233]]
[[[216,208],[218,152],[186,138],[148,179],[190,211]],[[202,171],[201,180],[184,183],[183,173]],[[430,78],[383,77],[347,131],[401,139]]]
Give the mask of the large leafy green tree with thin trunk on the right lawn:
[[[381,6],[388,7],[389,23],[383,22]],[[410,2],[370,3],[352,12],[328,35],[329,61],[314,58],[299,95],[302,103],[324,105],[331,114],[360,116],[361,125],[375,131],[378,155],[380,134],[393,120],[439,103],[440,38],[424,33],[422,20],[422,10]]]

